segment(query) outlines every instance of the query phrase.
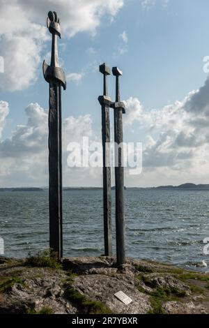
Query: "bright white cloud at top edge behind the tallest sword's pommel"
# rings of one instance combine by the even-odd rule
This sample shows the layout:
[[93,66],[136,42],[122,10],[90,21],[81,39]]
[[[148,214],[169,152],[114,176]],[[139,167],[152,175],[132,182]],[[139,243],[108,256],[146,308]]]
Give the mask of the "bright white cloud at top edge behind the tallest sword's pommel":
[[49,10],[55,10],[61,18],[62,30],[68,36],[82,31],[95,33],[102,16],[114,17],[123,7],[123,0],[31,0],[30,6],[27,0],[17,2],[31,20],[35,16],[40,24]]

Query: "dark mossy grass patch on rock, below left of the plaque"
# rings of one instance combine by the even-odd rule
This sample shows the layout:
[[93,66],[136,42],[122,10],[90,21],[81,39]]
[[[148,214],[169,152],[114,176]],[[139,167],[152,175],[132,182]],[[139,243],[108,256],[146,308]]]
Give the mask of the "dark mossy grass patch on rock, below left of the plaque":
[[111,310],[101,301],[92,301],[85,295],[80,294],[70,285],[65,288],[64,296],[66,299],[80,308],[80,313],[88,314],[111,314]]

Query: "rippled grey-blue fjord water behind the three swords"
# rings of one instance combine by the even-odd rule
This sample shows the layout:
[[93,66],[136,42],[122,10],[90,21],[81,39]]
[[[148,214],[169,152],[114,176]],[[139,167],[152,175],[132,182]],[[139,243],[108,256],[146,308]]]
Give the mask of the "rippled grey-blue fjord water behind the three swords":
[[[114,191],[113,203],[114,203]],[[114,204],[113,204],[114,207]],[[208,271],[209,190],[126,190],[127,256]],[[6,256],[23,258],[48,248],[47,191],[0,193],[0,237]],[[113,208],[113,237],[114,208]],[[115,238],[114,238],[115,252]],[[102,190],[63,192],[65,256],[103,253]],[[208,267],[197,268],[205,261]]]

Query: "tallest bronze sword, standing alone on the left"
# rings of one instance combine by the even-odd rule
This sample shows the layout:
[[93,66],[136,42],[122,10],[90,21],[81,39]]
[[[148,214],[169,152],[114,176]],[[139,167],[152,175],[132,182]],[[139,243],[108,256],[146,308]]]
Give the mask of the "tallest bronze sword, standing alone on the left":
[[49,11],[47,27],[52,33],[51,64],[43,62],[42,70],[49,83],[49,246],[58,258],[63,256],[62,229],[62,137],[61,87],[66,89],[65,73],[59,67],[58,37],[61,38],[59,17]]

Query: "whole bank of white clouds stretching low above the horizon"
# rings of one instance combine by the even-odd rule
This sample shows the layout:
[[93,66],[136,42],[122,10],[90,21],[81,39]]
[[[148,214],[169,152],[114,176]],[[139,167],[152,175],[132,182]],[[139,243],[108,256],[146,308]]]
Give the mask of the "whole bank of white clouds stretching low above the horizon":
[[[126,100],[123,116],[125,133],[136,127],[143,141],[143,173],[126,175],[127,186],[206,183],[209,161],[209,81],[190,92],[182,101],[147,111],[138,98]],[[0,185],[47,185],[47,111],[40,105],[26,107],[27,124],[17,126],[10,138],[0,142]],[[8,103],[0,103],[0,132],[8,115]],[[95,131],[98,131],[96,128]],[[83,136],[100,140],[93,130],[91,115],[68,117],[63,121],[63,184],[101,186],[102,170],[67,167],[69,142]]]

